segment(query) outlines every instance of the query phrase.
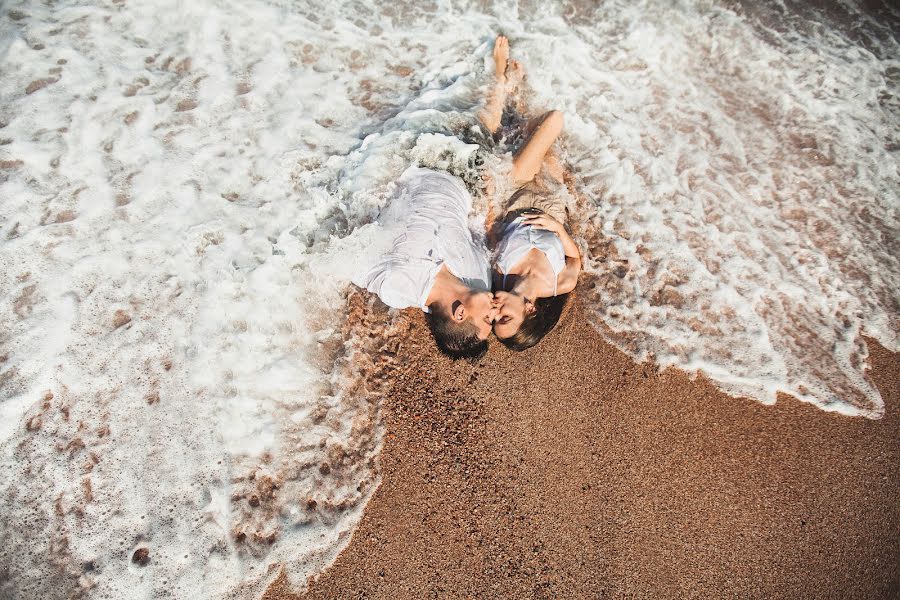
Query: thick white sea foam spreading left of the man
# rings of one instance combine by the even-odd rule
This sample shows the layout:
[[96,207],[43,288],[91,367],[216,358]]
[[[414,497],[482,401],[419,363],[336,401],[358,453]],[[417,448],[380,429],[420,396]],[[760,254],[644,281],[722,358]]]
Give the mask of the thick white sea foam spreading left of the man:
[[302,584],[376,483],[345,290],[410,162],[469,169],[446,133],[488,30],[460,52],[322,7],[5,10],[2,595]]

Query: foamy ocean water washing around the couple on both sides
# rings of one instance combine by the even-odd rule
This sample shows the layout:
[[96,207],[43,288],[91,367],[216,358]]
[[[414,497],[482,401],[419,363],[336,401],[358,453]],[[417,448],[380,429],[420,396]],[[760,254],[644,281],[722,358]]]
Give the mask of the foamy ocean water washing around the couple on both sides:
[[498,33],[523,103],[565,113],[598,330],[736,396],[879,417],[861,336],[900,350],[898,22],[4,3],[0,596],[249,598],[336,556],[377,485],[403,327],[349,281],[390,243],[407,166],[477,189],[508,162],[471,129]]

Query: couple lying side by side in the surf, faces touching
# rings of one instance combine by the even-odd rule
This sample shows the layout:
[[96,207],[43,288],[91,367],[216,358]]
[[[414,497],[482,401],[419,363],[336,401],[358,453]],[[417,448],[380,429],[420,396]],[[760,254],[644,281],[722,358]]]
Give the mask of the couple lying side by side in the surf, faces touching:
[[[494,64],[495,83],[479,114],[491,135],[522,79],[503,36],[494,44]],[[514,350],[535,345],[556,325],[581,271],[581,255],[564,225],[565,202],[541,181],[562,183],[562,168],[549,153],[562,131],[562,114],[551,111],[529,125],[509,181],[488,181],[489,194],[515,190],[489,225],[493,266],[469,228],[472,197],[462,180],[413,167],[400,181],[401,233],[356,281],[388,306],[420,307],[438,347],[453,357],[483,354],[492,330]]]

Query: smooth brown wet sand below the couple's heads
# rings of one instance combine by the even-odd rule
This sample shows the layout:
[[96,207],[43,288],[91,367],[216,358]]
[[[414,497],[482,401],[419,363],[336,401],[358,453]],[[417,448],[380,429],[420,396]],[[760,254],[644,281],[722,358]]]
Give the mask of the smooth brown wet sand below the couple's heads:
[[897,355],[870,343],[874,421],[637,365],[577,299],[477,364],[409,318],[380,488],[306,593],[267,600],[898,597]]

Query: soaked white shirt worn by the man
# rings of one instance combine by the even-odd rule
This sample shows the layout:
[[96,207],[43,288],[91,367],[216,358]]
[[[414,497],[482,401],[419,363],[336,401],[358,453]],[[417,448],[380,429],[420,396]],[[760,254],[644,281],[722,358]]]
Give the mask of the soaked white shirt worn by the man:
[[442,266],[477,290],[490,290],[490,262],[469,227],[472,197],[462,180],[442,171],[411,167],[382,225],[399,230],[393,247],[354,283],[393,308],[425,301]]

